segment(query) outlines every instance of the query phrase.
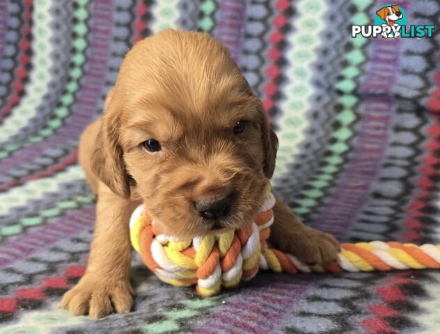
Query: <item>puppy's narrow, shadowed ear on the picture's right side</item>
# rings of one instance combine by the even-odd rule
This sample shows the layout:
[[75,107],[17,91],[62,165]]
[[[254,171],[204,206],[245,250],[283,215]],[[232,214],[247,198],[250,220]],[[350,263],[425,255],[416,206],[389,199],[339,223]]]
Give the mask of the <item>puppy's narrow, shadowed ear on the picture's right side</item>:
[[263,172],[265,176],[270,179],[274,175],[275,161],[276,161],[276,151],[278,150],[278,137],[276,136],[274,130],[267,122],[267,115],[263,106],[260,106],[260,116],[261,116],[261,140],[262,148],[264,154],[263,161]]

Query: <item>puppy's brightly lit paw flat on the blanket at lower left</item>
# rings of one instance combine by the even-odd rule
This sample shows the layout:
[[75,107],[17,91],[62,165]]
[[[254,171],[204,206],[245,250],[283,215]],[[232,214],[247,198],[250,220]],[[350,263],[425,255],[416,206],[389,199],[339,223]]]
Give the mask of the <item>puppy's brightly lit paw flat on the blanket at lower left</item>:
[[111,312],[127,313],[133,305],[134,290],[128,280],[100,282],[82,278],[79,283],[66,292],[60,307],[72,315],[90,315],[98,319]]

